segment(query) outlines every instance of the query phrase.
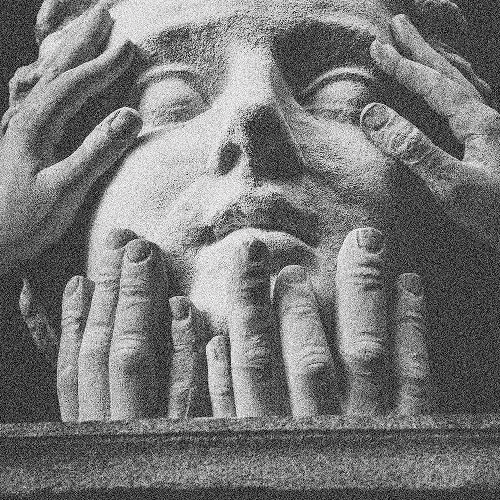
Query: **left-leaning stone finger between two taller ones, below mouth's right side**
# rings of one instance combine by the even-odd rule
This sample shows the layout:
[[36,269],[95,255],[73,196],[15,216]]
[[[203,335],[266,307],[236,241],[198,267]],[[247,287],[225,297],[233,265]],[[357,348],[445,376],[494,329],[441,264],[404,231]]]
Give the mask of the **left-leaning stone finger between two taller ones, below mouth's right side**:
[[274,285],[274,307],[292,415],[331,413],[336,393],[333,358],[303,267],[281,269]]

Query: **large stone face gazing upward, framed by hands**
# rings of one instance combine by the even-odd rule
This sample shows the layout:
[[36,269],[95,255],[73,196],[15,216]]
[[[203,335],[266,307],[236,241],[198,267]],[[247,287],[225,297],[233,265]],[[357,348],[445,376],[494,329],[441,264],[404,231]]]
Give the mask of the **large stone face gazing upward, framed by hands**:
[[256,236],[274,278],[287,264],[307,268],[327,323],[345,235],[374,226],[394,247],[407,238],[394,163],[359,127],[366,104],[392,104],[368,47],[374,36],[390,41],[390,17],[403,11],[388,0],[111,8],[109,43],[138,46],[119,105],[137,109],[144,127],[96,206],[88,276],[107,231],[132,229],[164,251],[170,293],[189,296],[223,329],[227,262]]

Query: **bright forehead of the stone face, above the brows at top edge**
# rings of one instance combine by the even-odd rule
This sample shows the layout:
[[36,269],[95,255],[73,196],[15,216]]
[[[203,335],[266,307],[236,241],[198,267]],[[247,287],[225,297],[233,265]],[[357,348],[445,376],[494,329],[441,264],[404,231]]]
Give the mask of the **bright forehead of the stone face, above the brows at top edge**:
[[164,30],[209,26],[217,37],[265,40],[306,21],[352,26],[389,36],[387,21],[407,0],[123,0],[111,8],[113,38],[134,43]]

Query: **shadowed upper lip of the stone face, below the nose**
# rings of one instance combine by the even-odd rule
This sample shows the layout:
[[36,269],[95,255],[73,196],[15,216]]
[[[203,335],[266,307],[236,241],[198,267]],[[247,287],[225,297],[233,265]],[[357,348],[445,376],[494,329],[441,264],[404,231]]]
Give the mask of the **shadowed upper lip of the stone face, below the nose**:
[[272,193],[261,196],[240,196],[203,224],[203,239],[216,241],[232,231],[256,227],[286,232],[310,246],[317,246],[320,238],[319,218],[315,211],[299,207],[283,195]]

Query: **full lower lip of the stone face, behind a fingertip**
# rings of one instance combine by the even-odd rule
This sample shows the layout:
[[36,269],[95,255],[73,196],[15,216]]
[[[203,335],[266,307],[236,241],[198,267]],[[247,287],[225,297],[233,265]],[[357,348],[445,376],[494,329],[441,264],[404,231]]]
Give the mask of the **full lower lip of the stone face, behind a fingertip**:
[[267,246],[271,274],[278,274],[283,267],[291,264],[298,264],[307,269],[317,267],[316,254],[312,248],[287,232],[244,227],[232,231],[222,239],[237,242],[251,238],[257,238]]

